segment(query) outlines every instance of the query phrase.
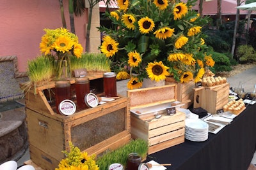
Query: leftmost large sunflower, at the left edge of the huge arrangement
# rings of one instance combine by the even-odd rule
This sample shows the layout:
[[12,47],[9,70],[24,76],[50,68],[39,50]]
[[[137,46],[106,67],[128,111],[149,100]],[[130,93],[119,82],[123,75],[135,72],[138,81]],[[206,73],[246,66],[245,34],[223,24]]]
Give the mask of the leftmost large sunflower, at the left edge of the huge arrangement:
[[118,45],[119,43],[116,43],[115,39],[112,39],[110,36],[105,36],[103,38],[103,43],[100,46],[100,50],[106,55],[106,57],[112,57],[116,52],[118,52]]

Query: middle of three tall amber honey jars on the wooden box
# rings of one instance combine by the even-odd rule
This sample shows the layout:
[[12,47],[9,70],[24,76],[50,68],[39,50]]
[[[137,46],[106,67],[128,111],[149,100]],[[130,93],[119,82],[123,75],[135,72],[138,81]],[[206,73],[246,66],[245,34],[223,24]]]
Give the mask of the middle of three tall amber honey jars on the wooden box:
[[90,93],[90,81],[89,78],[81,77],[76,78],[76,103],[77,108],[85,109],[88,108],[84,102],[84,96]]

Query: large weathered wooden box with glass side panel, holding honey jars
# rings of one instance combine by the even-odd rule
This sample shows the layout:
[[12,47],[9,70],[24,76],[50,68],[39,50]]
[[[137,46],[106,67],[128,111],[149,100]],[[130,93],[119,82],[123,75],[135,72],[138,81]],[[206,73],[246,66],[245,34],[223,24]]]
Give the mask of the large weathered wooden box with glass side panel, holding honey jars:
[[[90,83],[91,80],[92,77]],[[65,157],[62,151],[69,150],[70,141],[89,155],[113,150],[130,141],[128,97],[120,96],[115,101],[63,116],[47,102],[51,96],[47,93],[53,90],[54,85],[49,83],[26,94],[29,152],[31,162],[38,167],[45,170],[58,167]]]

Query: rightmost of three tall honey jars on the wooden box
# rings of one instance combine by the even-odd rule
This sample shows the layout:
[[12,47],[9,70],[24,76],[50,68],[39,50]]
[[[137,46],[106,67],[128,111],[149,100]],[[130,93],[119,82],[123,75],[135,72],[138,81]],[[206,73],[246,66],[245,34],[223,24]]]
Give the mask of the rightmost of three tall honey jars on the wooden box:
[[107,72],[103,74],[104,81],[104,94],[105,97],[116,97],[116,74],[113,72]]

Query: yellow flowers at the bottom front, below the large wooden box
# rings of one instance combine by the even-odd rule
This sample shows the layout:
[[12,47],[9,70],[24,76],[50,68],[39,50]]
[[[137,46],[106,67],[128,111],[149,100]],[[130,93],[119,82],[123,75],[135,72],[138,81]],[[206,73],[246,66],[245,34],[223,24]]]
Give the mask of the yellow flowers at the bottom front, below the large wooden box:
[[60,161],[55,170],[99,170],[95,162],[95,155],[88,156],[86,152],[81,153],[79,148],[69,143],[70,152],[63,151],[66,158]]

